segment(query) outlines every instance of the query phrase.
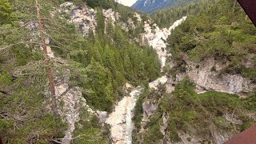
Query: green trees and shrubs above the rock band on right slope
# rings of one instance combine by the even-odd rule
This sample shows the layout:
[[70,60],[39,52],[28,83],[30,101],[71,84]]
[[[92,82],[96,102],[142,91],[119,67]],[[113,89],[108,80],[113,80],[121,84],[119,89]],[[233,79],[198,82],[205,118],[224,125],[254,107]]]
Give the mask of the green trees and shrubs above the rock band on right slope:
[[[199,2],[200,7],[207,7],[206,1]],[[196,4],[196,5],[198,5]],[[229,63],[222,73],[242,74],[254,81],[254,68],[246,69],[244,63],[254,63],[256,55],[254,31],[256,28],[242,12],[237,2],[214,1],[205,9],[196,9],[181,26],[167,39],[167,50],[177,62],[170,73],[184,71],[186,62],[202,62],[214,58],[217,62]],[[251,31],[251,33],[249,32]],[[250,58],[248,58],[250,57]]]

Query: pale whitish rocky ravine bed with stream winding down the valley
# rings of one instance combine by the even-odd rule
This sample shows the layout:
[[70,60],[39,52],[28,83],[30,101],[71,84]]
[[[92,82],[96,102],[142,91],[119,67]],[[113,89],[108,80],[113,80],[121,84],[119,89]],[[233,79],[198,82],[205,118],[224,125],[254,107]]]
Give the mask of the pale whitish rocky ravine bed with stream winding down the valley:
[[[143,38],[147,39],[147,42],[154,50],[158,53],[159,61],[161,62],[161,70],[166,66],[166,57],[169,55],[166,51],[166,39],[171,34],[171,30],[174,30],[179,24],[186,20],[186,17],[179,19],[174,22],[169,29],[160,30],[158,26],[155,25],[155,29],[152,30],[149,24],[145,24],[144,29],[146,31],[143,34]],[[167,82],[166,75],[161,78],[156,79],[154,82],[150,82],[149,86],[151,89],[157,89],[159,83],[164,84]],[[122,98],[120,102],[115,106],[114,112],[109,114],[106,119],[106,123],[111,126],[110,133],[112,138],[112,143],[114,144],[131,144],[132,143],[132,131],[134,129],[134,124],[132,122],[133,110],[136,105],[139,94],[141,94],[142,87],[138,86],[134,88],[129,94]]]

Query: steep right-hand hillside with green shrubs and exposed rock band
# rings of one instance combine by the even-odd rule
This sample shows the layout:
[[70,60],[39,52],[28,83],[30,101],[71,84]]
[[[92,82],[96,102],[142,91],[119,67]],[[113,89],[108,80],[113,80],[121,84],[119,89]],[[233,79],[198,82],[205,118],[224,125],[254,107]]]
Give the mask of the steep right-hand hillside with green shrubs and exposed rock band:
[[134,142],[223,143],[254,125],[255,30],[233,0],[190,14],[166,41],[166,84],[138,99]]

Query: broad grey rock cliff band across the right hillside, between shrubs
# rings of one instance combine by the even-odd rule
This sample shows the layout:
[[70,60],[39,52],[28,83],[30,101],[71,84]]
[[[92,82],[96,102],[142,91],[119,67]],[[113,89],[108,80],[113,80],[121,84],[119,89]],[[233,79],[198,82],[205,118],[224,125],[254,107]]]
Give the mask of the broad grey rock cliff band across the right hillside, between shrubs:
[[188,76],[196,85],[198,93],[212,90],[242,96],[255,87],[254,82],[240,74],[221,74],[228,63],[216,62],[214,58],[208,58],[200,64],[187,60],[186,64],[186,73],[178,74],[176,78],[180,81],[184,76]]

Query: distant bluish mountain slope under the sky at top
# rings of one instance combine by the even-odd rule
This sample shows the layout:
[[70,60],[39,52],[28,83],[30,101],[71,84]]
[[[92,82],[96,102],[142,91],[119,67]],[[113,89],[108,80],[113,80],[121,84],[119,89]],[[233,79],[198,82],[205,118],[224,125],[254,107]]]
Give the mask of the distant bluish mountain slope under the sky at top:
[[154,13],[166,7],[183,5],[197,0],[138,0],[132,7],[144,13]]

